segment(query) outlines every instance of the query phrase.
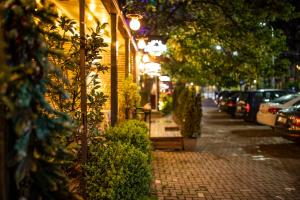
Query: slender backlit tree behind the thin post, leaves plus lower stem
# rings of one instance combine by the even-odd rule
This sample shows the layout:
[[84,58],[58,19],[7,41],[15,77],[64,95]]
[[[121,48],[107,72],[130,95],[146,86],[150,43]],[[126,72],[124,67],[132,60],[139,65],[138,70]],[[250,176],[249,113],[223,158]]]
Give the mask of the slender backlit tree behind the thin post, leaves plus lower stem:
[[[46,34],[46,43],[50,48],[49,59],[59,68],[59,72],[49,73],[49,78],[55,85],[48,87],[46,96],[51,105],[61,112],[68,113],[73,123],[73,134],[67,138],[66,148],[72,150],[73,155],[79,158],[80,120],[81,120],[81,88],[80,88],[80,36],[76,31],[76,22],[66,16],[56,19],[56,24],[41,24]],[[101,64],[102,53],[108,45],[104,42],[102,33],[107,24],[97,23],[95,29],[90,28],[85,36],[85,70],[87,80],[87,128],[88,136],[99,135],[103,120],[102,106],[107,96],[101,91],[101,75],[108,67]],[[61,78],[63,76],[64,79]],[[65,91],[64,94],[59,92]],[[73,160],[73,165],[65,168],[71,179],[73,191],[79,190],[80,179],[79,159]]]

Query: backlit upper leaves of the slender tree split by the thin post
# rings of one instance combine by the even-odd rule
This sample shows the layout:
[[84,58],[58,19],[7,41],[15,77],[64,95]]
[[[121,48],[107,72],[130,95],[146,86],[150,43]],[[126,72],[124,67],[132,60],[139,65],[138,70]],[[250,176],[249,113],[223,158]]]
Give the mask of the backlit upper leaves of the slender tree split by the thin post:
[[[100,63],[101,53],[108,46],[102,35],[106,25],[98,23],[97,27],[89,29],[90,34],[85,36],[88,130],[94,134],[98,132],[99,124],[103,118],[102,106],[107,99],[104,93],[100,91],[100,74],[108,69],[107,66]],[[64,88],[68,93],[68,96],[61,96],[50,88],[48,91],[49,99],[53,106],[69,113],[79,125],[81,119],[80,37],[76,32],[76,26],[74,20],[61,16],[57,19],[57,25],[46,26],[44,29],[51,32],[46,40],[49,48],[54,52],[50,59],[61,68],[65,80],[59,80],[57,73],[51,73],[50,78],[55,80],[57,88]],[[57,50],[60,51],[60,55],[55,53]]]

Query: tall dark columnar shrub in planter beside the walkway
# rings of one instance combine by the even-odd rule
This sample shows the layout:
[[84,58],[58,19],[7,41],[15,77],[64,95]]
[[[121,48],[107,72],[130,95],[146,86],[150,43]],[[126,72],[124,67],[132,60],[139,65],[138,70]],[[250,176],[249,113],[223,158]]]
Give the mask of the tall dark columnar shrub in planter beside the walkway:
[[201,133],[201,95],[196,93],[194,87],[177,90],[180,94],[176,99],[174,114],[176,122],[181,126],[181,134],[184,137],[197,137]]

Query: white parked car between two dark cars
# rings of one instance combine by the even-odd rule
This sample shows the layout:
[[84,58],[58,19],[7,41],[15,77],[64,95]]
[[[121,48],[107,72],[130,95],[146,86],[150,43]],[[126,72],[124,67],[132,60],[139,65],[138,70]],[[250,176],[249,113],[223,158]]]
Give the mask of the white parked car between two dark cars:
[[279,110],[289,108],[291,106],[300,104],[300,94],[288,94],[268,103],[260,104],[259,110],[256,114],[258,123],[275,126],[276,114]]

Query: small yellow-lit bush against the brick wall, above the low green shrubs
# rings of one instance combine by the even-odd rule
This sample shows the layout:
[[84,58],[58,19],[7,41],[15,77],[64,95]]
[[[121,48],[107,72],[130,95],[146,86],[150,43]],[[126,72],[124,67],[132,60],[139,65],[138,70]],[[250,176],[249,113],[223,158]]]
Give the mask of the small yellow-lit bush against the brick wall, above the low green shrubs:
[[134,117],[134,113],[140,102],[139,86],[133,82],[132,76],[129,76],[124,81],[121,99],[121,108],[125,114],[125,119]]

